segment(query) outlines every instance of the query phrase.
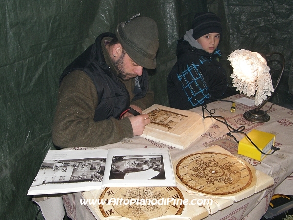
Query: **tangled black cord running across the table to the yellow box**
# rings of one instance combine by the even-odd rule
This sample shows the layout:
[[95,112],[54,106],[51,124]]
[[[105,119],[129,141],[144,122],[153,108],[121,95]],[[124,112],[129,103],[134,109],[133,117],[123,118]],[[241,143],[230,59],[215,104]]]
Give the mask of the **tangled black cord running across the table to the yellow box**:
[[[229,100],[220,100],[220,99],[217,99],[217,101],[233,102],[233,101],[229,101]],[[271,106],[271,107],[272,107],[272,106]],[[270,107],[270,109],[271,109],[271,107]],[[269,109],[269,110],[270,110],[270,109]],[[205,110],[210,114],[209,116],[205,116]],[[217,120],[217,121],[219,121],[219,122],[225,124],[225,125],[227,126],[228,130],[229,130],[229,132],[226,133],[226,135],[227,135],[227,136],[230,136],[230,137],[233,137],[233,139],[235,140],[235,142],[236,142],[237,144],[239,143],[239,141],[236,139],[236,137],[235,137],[234,135],[232,135],[232,133],[241,133],[241,134],[244,134],[244,135],[248,138],[248,140],[253,144],[253,146],[254,146],[254,147],[255,147],[260,153],[262,153],[262,154],[265,154],[265,155],[271,155],[271,154],[273,154],[275,151],[280,150],[280,148],[277,148],[277,147],[271,146],[271,149],[273,150],[273,152],[270,153],[270,154],[264,153],[262,150],[260,150],[260,149],[259,149],[259,148],[253,143],[253,141],[249,138],[249,136],[247,136],[247,134],[246,134],[245,132],[243,132],[244,129],[245,129],[245,126],[244,126],[244,125],[241,125],[239,128],[234,129],[232,126],[230,126],[230,125],[227,123],[227,120],[226,120],[223,116],[213,115],[213,114],[216,112],[216,110],[215,110],[215,109],[210,109],[210,110],[208,110],[208,109],[207,109],[207,104],[206,104],[206,102],[202,105],[202,111],[203,111],[203,118],[204,118],[204,119],[205,119],[205,118],[214,118],[215,120]],[[223,121],[222,121],[222,120],[219,120],[218,118],[223,119]]]

